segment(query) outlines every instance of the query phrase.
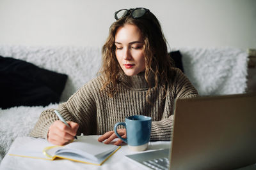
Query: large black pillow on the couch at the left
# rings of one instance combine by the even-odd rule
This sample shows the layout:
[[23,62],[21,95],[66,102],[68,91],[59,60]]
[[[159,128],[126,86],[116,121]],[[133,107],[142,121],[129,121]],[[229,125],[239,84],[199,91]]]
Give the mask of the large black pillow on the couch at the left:
[[0,56],[0,108],[59,103],[66,81],[66,74]]

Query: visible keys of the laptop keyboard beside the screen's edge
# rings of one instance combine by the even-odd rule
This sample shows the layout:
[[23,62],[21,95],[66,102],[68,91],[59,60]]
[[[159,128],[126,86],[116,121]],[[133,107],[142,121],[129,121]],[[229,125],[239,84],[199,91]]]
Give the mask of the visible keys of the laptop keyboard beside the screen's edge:
[[145,160],[142,162],[145,166],[150,167],[151,169],[169,169],[170,161],[168,157],[157,158],[152,160]]

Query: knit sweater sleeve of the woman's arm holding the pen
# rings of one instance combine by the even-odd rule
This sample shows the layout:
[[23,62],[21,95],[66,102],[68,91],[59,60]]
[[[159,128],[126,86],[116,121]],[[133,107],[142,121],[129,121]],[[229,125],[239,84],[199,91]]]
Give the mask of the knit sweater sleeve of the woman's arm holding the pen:
[[[90,84],[81,87],[66,103],[60,104],[57,110],[66,121],[79,124],[77,135],[81,132],[85,135],[92,134],[92,127],[95,127],[93,125],[96,122],[96,105]],[[56,120],[58,120],[58,117],[54,113],[54,109],[43,111],[29,135],[35,138],[47,139],[49,127]]]

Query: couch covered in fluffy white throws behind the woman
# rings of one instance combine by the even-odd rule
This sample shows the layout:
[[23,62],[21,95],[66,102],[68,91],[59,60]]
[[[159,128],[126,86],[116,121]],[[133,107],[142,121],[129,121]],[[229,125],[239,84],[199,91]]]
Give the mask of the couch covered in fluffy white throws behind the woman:
[[[172,48],[172,51],[180,52],[176,64],[184,68],[184,73],[201,96],[246,92],[248,56],[243,50],[180,47]],[[0,45],[0,55],[67,75],[58,103],[67,101],[84,83],[97,76],[101,64],[100,47],[90,46]],[[58,103],[0,108],[0,161],[13,140],[18,136],[28,136],[40,113],[47,108],[57,108]]]

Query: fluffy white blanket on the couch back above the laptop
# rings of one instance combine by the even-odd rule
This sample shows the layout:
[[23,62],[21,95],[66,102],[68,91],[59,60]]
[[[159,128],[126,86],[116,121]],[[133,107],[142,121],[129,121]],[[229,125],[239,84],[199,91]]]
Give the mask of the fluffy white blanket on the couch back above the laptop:
[[184,72],[201,96],[246,90],[248,54],[237,48],[179,48]]

